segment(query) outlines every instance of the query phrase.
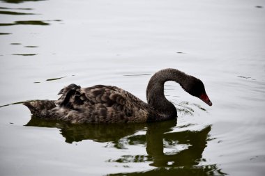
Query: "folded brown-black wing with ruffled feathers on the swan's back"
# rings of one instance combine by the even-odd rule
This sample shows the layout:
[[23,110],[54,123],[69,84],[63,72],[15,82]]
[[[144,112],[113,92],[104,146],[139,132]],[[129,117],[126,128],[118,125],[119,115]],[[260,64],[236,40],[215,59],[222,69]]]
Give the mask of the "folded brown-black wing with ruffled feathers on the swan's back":
[[[70,84],[63,88],[56,104],[67,109],[68,121],[77,122],[144,122],[146,104],[115,86],[97,85],[81,88]],[[73,120],[71,120],[73,118]]]

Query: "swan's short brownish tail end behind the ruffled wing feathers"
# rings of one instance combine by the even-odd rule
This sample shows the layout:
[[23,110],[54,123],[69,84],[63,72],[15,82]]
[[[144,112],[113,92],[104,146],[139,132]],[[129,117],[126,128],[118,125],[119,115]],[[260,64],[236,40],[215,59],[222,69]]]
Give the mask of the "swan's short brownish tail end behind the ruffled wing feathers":
[[32,115],[39,118],[45,118],[47,112],[56,107],[54,100],[33,100],[23,104],[29,108]]

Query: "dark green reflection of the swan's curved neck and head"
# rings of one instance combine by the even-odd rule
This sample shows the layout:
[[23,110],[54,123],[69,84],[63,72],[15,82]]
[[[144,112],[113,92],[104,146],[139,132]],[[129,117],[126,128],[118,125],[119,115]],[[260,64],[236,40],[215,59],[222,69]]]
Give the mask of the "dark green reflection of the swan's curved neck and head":
[[[108,162],[117,163],[146,163],[155,166],[153,170],[137,173],[117,173],[109,175],[226,175],[216,164],[202,165],[206,161],[202,152],[209,141],[211,126],[199,131],[179,131],[167,133],[174,127],[172,122],[162,122],[148,125],[146,131],[147,155],[123,155],[119,159]],[[165,146],[165,143],[167,146]],[[174,148],[175,145],[187,145],[183,150],[176,150],[167,154],[165,147]],[[161,170],[161,173],[158,174]],[[170,172],[168,171],[170,170]],[[182,174],[183,173],[183,174]]]

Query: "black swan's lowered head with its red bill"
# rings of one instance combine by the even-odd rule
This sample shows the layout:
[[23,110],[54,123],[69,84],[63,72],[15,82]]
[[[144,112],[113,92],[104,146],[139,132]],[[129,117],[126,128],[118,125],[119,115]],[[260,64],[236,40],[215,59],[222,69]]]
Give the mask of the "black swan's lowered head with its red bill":
[[209,106],[213,105],[208,95],[206,94],[204,83],[202,83],[201,80],[190,76],[190,78],[187,81],[185,81],[185,83],[183,83],[182,87],[190,95],[202,99],[202,101],[208,104]]

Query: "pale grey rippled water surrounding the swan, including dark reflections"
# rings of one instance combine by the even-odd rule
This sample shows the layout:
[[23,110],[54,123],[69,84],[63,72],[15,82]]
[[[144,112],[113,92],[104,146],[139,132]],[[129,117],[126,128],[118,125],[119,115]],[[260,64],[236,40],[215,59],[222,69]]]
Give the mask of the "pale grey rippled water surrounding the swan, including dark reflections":
[[145,100],[151,74],[165,67],[202,79],[213,102],[169,82],[176,124],[121,127],[35,122],[22,104],[3,106],[0,175],[265,175],[265,1],[0,7],[0,106],[56,99],[70,83]]

